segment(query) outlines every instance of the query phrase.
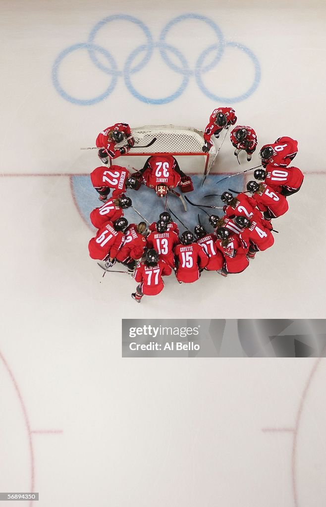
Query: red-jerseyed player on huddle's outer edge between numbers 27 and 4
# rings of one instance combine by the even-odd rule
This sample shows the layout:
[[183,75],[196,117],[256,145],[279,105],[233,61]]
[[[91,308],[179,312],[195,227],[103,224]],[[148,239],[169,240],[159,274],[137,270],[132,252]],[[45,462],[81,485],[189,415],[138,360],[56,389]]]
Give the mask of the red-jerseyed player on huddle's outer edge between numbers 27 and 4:
[[245,248],[237,234],[230,234],[225,227],[216,230],[216,247],[223,253],[225,262],[221,270],[221,275],[227,276],[229,273],[241,273],[249,266],[246,258],[248,248]]

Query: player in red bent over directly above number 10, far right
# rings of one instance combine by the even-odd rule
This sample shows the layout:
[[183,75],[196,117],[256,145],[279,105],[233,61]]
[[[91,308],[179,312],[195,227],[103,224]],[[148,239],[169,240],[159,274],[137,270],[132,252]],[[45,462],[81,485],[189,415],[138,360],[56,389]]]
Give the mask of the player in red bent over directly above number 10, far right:
[[286,167],[298,153],[298,141],[291,137],[279,137],[272,144],[264,144],[259,152],[262,166],[271,164],[274,167]]

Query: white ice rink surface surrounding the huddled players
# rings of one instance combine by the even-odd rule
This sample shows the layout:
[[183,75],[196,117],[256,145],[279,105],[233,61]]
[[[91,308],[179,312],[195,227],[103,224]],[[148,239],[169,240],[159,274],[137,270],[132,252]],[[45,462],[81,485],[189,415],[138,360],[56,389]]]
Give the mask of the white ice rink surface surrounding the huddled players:
[[[121,358],[123,317],[324,317],[325,12],[2,2],[0,491],[39,491],[40,507],[325,505],[323,360]],[[298,139],[304,185],[246,271],[170,277],[137,305],[132,279],[88,257],[98,160],[80,148],[117,121],[203,129],[218,105],[259,146]],[[226,142],[207,193],[249,167]]]

